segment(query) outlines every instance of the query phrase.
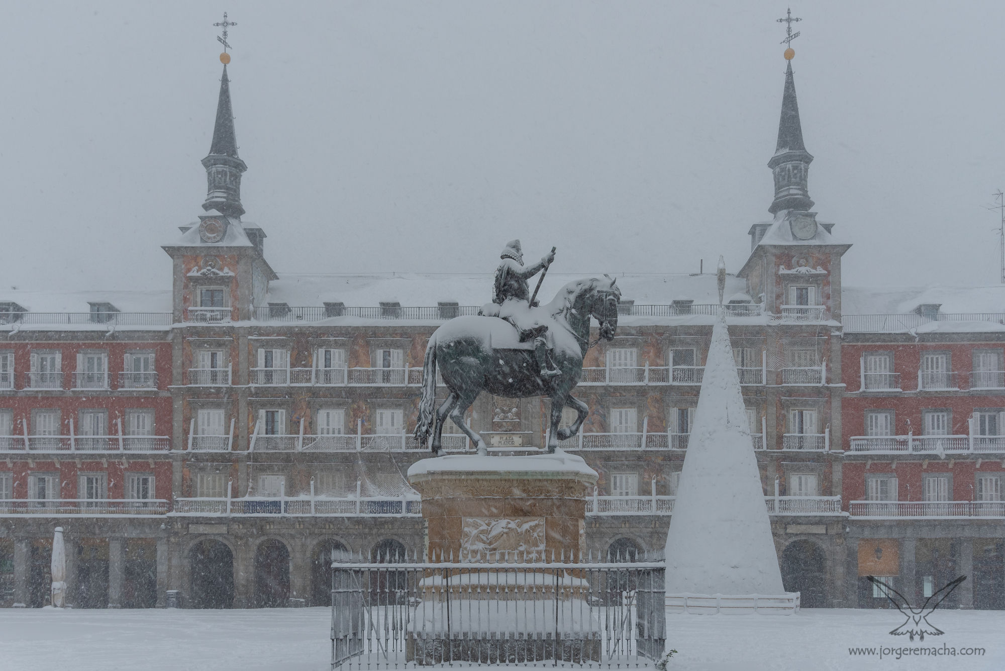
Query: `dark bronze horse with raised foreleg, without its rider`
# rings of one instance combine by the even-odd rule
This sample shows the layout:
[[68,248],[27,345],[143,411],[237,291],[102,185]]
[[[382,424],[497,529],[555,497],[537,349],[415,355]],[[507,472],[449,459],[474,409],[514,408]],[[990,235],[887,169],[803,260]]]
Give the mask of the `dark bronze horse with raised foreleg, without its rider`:
[[[479,454],[485,454],[481,436],[464,426],[464,412],[482,391],[510,399],[548,396],[552,413],[548,451],[559,441],[576,435],[586,420],[588,407],[571,392],[583,376],[583,358],[590,348],[590,317],[600,322],[600,337],[614,338],[618,325],[621,289],[614,279],[589,277],[569,282],[555,298],[531,309],[549,317],[549,356],[560,375],[543,379],[535,365],[534,344],[521,343],[517,329],[494,316],[458,316],[437,328],[426,347],[422,370],[422,400],[415,438],[425,444],[432,435],[433,454],[440,450],[440,436],[447,416],[471,439]],[[436,371],[439,369],[450,394],[435,410]],[[575,408],[576,421],[568,429],[559,428],[562,409]]]

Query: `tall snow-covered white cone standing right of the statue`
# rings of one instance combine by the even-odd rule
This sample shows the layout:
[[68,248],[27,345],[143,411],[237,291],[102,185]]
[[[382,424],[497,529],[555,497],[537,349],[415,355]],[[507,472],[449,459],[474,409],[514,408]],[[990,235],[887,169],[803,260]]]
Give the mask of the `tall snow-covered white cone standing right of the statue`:
[[725,316],[712,330],[666,534],[666,594],[682,593],[784,593]]

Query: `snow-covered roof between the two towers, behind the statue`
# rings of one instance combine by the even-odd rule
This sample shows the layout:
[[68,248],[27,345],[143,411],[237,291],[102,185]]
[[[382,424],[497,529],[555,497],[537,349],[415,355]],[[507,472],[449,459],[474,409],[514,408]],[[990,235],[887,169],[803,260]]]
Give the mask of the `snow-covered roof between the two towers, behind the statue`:
[[[566,283],[600,273],[552,273],[545,277],[539,297],[551,300]],[[402,305],[433,306],[438,302],[481,305],[492,297],[492,274],[447,273],[278,273],[269,282],[267,300],[291,306],[322,305],[342,302],[350,306],[377,306],[381,302]],[[623,300],[637,305],[669,304],[681,298],[695,303],[718,303],[716,275],[706,273],[619,273],[617,278]],[[537,280],[532,280],[532,285]],[[745,280],[728,275],[726,295],[746,290]]]

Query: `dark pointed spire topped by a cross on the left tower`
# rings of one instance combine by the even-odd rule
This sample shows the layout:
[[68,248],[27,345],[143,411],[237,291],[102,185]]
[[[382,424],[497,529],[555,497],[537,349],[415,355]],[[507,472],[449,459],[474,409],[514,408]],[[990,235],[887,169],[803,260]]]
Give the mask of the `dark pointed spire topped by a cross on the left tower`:
[[247,166],[237,156],[234,113],[230,104],[230,78],[227,76],[230,54],[226,51],[230,47],[226,41],[227,27],[237,24],[228,22],[224,14],[223,23],[214,25],[222,25],[224,31],[223,38],[218,38],[224,45],[224,51],[220,54],[223,76],[220,77],[220,97],[216,103],[213,142],[209,147],[209,155],[202,160],[208,183],[206,202],[202,207],[204,210],[216,210],[228,216],[240,217],[244,214],[244,208],[241,206],[241,174],[247,170]]

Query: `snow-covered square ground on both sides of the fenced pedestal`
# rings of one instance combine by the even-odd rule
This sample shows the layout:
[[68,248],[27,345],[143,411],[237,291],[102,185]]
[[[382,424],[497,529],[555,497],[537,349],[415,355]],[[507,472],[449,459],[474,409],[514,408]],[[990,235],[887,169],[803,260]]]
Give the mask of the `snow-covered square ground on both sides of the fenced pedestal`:
[[[1005,669],[1005,611],[937,611],[946,634],[912,644],[887,632],[896,611],[805,610],[795,616],[667,615],[669,669]],[[0,669],[323,671],[329,611],[0,610]],[[945,646],[945,648],[944,648]],[[852,656],[849,648],[955,648],[957,656]],[[963,648],[984,648],[980,657]]]

